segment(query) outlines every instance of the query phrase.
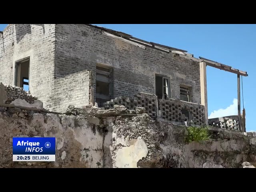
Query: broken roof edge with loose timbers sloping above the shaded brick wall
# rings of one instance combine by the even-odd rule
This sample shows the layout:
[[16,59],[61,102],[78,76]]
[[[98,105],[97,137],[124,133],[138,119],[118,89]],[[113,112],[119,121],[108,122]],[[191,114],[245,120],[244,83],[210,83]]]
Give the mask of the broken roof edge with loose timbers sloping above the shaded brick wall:
[[182,50],[182,49],[178,49],[178,48],[173,48],[173,47],[170,47],[170,46],[165,46],[165,45],[154,43],[154,42],[147,42],[145,40],[142,40],[142,39],[139,39],[139,38],[135,38],[132,35],[126,34],[124,32],[120,32],[120,31],[116,31],[116,30],[112,30],[112,29],[108,29],[108,28],[104,28],[104,27],[100,27],[100,26],[96,26],[96,25],[92,25],[92,24],[85,24],[85,25],[88,25],[88,26],[91,26],[91,27],[94,27],[94,28],[98,28],[98,29],[104,30],[106,32],[109,32],[109,33],[111,33],[113,35],[125,38],[127,40],[134,40],[134,41],[136,41],[138,43],[146,44],[146,45],[151,46],[151,47],[158,46],[158,47],[165,48],[165,49],[168,49],[168,50],[175,50],[175,51],[180,51],[180,52],[184,52],[184,53],[188,52],[186,50]]

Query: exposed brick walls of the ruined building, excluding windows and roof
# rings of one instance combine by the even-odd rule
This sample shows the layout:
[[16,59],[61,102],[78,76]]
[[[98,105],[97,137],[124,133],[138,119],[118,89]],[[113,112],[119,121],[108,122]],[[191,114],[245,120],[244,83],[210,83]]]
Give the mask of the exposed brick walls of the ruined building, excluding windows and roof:
[[[86,79],[75,84],[75,79],[68,77],[84,70],[96,76],[96,64],[113,68],[113,99],[132,98],[138,92],[154,94],[155,74],[162,74],[170,78],[172,98],[180,99],[180,84],[184,84],[192,87],[192,102],[200,103],[199,64],[176,54],[134,46],[84,24],[10,24],[3,33],[0,82],[14,85],[15,62],[29,56],[30,93],[42,100],[46,109],[62,110],[70,102],[67,92],[74,95],[79,89],[79,98],[74,98],[77,102],[70,104],[88,104],[91,89],[83,88],[84,84],[79,88]],[[96,78],[91,83],[95,98]],[[76,90],[69,84],[75,84]]]

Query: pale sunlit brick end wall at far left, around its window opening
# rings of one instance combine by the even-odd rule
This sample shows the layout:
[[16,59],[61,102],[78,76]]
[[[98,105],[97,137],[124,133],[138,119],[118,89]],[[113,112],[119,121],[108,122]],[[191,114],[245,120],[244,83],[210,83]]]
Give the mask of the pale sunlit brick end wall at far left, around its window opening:
[[54,80],[55,24],[9,24],[0,36],[0,82],[14,85],[14,63],[30,56],[30,93],[50,96]]

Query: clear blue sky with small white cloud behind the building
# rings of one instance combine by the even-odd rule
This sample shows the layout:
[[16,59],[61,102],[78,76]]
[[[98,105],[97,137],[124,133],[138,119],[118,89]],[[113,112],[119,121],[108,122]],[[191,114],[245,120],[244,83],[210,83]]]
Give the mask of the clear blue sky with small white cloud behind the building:
[[[194,57],[246,71],[243,77],[246,130],[256,131],[255,24],[95,24],[128,33],[136,38],[187,50]],[[0,24],[2,31],[6,24]],[[208,114],[237,115],[237,75],[207,66]],[[242,110],[241,82],[241,110]],[[215,111],[215,112],[214,112]],[[212,113],[213,112],[213,113]]]

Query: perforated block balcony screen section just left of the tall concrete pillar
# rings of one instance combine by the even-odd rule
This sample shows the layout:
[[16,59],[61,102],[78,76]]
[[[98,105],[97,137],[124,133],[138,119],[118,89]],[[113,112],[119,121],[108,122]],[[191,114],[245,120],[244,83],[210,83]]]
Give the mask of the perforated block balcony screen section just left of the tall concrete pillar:
[[195,125],[205,124],[204,106],[180,100],[158,100],[158,116],[174,122],[189,121]]

